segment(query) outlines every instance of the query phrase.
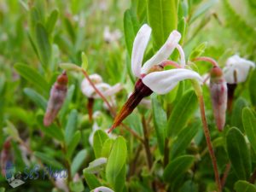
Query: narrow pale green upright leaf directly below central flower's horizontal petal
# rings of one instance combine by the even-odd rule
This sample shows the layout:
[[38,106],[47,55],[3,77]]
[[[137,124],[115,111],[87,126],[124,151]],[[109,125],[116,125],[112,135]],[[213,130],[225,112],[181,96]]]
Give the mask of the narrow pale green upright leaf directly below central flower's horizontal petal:
[[154,129],[159,145],[160,153],[164,154],[165,138],[166,138],[166,112],[161,107],[160,102],[157,100],[156,95],[152,96]]

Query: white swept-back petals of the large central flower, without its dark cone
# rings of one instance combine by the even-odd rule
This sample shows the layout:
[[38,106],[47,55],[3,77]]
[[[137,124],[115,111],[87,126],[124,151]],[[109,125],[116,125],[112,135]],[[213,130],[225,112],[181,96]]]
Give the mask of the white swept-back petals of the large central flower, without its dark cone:
[[[133,43],[131,55],[131,70],[132,73],[139,79],[143,80],[143,84],[147,85],[150,90],[158,94],[166,94],[172,90],[179,81],[184,79],[197,79],[201,81],[201,76],[192,70],[185,69],[185,59],[182,47],[178,44],[181,34],[176,30],[172,31],[166,40],[166,43],[146,61],[142,67],[143,55],[150,38],[151,28],[144,24]],[[150,69],[154,66],[160,66],[161,62],[166,61],[172,54],[173,50],[177,49],[181,55],[181,68],[157,71],[150,73]]]

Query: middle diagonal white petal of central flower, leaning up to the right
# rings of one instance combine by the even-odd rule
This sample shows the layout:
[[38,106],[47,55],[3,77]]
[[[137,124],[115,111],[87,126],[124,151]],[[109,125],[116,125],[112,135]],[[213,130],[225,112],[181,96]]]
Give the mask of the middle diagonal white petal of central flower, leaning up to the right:
[[181,34],[179,32],[176,30],[172,31],[169,38],[167,38],[166,43],[163,44],[157,53],[143,65],[141,73],[146,74],[151,67],[168,59],[168,57],[172,54],[172,51],[177,47],[177,43],[179,42],[180,38]]

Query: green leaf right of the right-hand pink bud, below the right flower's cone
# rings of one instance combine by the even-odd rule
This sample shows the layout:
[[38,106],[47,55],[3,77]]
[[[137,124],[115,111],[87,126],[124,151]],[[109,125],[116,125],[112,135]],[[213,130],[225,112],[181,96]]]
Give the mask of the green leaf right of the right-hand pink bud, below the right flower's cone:
[[231,116],[231,126],[236,126],[241,132],[244,132],[244,128],[242,126],[241,112],[242,109],[245,107],[247,107],[247,101],[241,97],[238,98],[235,102]]

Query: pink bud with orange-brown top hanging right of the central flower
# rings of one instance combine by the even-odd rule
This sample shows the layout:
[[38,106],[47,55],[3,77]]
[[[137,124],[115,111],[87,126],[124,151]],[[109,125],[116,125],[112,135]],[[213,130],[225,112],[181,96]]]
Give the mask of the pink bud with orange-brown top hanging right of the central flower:
[[210,74],[213,115],[218,131],[223,131],[227,109],[227,84],[219,67],[213,67]]

